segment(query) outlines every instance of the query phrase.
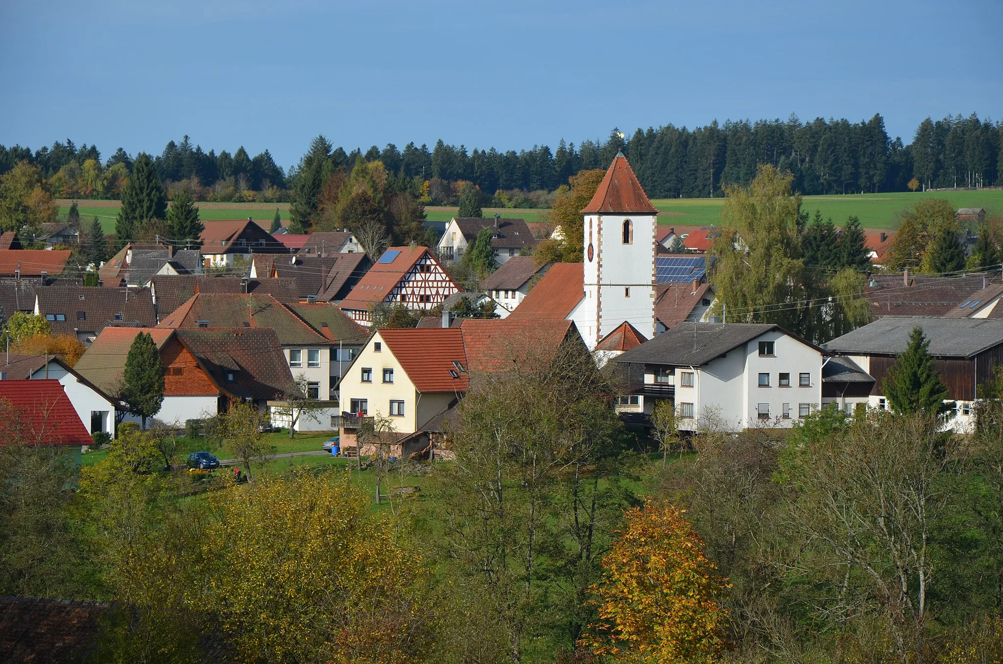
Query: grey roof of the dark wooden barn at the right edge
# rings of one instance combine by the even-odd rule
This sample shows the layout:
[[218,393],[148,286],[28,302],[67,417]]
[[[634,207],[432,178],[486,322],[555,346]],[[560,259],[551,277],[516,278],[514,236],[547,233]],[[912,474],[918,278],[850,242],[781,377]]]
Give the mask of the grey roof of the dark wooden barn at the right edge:
[[898,355],[914,327],[923,328],[935,357],[972,357],[1003,344],[1003,320],[887,316],[832,339],[825,347],[847,355]]

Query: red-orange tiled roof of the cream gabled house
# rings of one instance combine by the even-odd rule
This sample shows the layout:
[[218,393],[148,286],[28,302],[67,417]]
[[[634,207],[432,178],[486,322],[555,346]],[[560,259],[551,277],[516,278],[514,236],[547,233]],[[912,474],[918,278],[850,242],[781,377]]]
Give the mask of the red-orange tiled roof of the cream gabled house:
[[[466,351],[459,328],[379,330],[419,392],[465,392],[469,385]],[[456,371],[459,362],[463,372]],[[456,371],[456,378],[449,371]]]

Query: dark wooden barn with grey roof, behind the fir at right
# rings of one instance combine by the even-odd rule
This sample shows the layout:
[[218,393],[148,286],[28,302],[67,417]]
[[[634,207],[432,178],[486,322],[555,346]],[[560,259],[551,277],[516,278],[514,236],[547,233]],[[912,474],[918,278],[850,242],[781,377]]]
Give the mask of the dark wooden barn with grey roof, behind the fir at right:
[[[974,425],[974,403],[980,386],[996,376],[1003,363],[1003,320],[987,318],[940,318],[924,316],[887,317],[848,332],[825,344],[825,348],[853,361],[867,374],[845,403],[867,403],[887,409],[882,383],[909,346],[914,328],[922,328],[930,342],[934,368],[955,402],[948,424],[959,432]],[[865,389],[867,388],[867,389]]]

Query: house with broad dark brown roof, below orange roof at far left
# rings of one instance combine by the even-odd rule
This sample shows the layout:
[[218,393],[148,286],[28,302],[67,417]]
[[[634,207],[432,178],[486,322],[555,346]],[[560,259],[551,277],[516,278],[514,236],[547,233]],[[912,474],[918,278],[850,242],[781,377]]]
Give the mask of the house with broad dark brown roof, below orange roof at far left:
[[156,325],[148,288],[42,286],[35,291],[34,313],[45,317],[54,334],[72,335],[84,345],[107,326]]

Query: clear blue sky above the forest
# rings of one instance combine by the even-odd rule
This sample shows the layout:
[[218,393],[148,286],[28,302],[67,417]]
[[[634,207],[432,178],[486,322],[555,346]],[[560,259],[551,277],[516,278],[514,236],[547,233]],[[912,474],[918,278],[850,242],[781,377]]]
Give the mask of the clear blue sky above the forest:
[[614,126],[1003,116],[1003,2],[0,3],[0,143],[314,135],[499,149]]

